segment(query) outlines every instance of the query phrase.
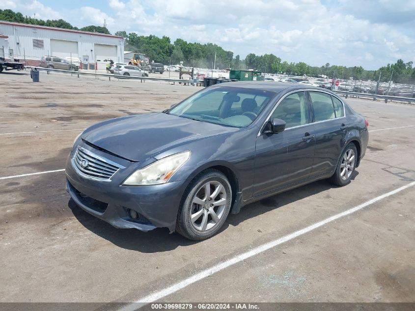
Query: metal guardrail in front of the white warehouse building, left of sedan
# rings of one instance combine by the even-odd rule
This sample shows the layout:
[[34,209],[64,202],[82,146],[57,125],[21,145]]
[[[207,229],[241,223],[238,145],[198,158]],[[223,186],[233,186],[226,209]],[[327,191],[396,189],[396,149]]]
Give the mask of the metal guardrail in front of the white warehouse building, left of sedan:
[[186,79],[169,79],[169,78],[155,78],[155,77],[133,77],[133,76],[121,76],[121,75],[115,75],[115,74],[105,74],[105,73],[92,73],[92,72],[83,72],[83,71],[72,71],[72,70],[62,70],[62,69],[52,69],[52,68],[43,68],[43,67],[35,67],[35,66],[26,66],[26,68],[30,68],[31,70],[38,70],[38,71],[46,71],[48,74],[50,72],[59,72],[59,73],[65,73],[65,74],[71,74],[71,75],[77,75],[79,76],[94,76],[94,77],[108,77],[109,81],[111,81],[111,78],[113,79],[124,79],[124,80],[140,80],[141,82],[148,81],[166,81],[166,82],[172,82],[173,84],[177,83],[183,83],[183,84],[200,84],[203,83],[203,81],[199,81],[197,79],[193,80],[186,80]]

